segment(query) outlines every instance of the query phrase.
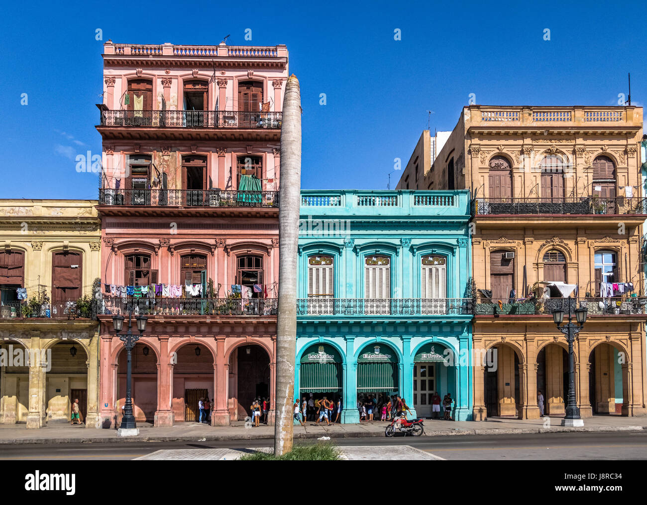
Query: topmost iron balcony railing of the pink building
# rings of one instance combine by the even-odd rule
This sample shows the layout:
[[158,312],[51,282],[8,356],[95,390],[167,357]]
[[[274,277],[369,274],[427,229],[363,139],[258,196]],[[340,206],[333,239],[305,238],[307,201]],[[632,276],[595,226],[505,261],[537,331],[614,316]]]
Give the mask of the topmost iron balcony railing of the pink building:
[[101,111],[101,126],[280,129],[283,113],[247,111]]

